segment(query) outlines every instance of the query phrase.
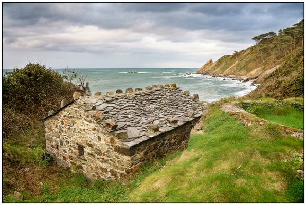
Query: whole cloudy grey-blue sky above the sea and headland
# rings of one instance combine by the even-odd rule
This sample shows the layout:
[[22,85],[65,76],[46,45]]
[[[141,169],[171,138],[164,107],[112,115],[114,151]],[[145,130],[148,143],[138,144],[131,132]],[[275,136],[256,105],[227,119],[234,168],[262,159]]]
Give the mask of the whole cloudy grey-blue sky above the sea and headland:
[[197,68],[302,18],[303,3],[3,3],[3,68]]

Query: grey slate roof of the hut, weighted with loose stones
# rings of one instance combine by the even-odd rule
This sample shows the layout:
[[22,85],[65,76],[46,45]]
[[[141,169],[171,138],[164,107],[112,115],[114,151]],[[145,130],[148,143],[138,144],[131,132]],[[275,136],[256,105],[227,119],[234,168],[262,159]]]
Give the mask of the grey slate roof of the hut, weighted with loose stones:
[[[129,147],[202,116],[204,109],[199,100],[184,95],[178,87],[161,85],[132,93],[80,96],[75,103],[85,107],[102,127]],[[106,125],[110,120],[115,128]],[[150,132],[152,124],[157,124],[159,131]]]

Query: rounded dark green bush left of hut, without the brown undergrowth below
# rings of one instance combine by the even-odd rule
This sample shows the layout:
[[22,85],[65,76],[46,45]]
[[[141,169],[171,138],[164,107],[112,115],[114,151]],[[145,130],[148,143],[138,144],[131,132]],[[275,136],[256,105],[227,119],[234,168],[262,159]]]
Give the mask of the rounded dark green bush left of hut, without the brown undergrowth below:
[[5,107],[38,117],[59,107],[63,98],[71,100],[75,90],[75,85],[64,81],[58,72],[38,63],[7,72],[2,82]]

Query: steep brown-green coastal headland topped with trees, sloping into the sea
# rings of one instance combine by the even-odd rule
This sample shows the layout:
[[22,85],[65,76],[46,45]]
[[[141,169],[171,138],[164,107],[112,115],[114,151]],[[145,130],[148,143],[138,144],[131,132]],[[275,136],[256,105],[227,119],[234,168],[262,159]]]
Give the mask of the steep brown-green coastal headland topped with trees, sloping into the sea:
[[283,30],[255,36],[255,45],[208,60],[197,74],[254,80],[260,84],[248,96],[301,97],[304,88],[304,20]]

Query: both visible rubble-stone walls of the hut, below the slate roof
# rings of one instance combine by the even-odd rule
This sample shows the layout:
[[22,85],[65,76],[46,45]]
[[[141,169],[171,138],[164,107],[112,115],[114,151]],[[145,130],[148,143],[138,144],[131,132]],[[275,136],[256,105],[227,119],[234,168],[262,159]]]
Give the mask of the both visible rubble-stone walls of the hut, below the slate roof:
[[92,112],[75,102],[45,120],[46,151],[60,165],[90,179],[121,178],[156,156],[185,149],[200,119],[128,147],[102,128]]

